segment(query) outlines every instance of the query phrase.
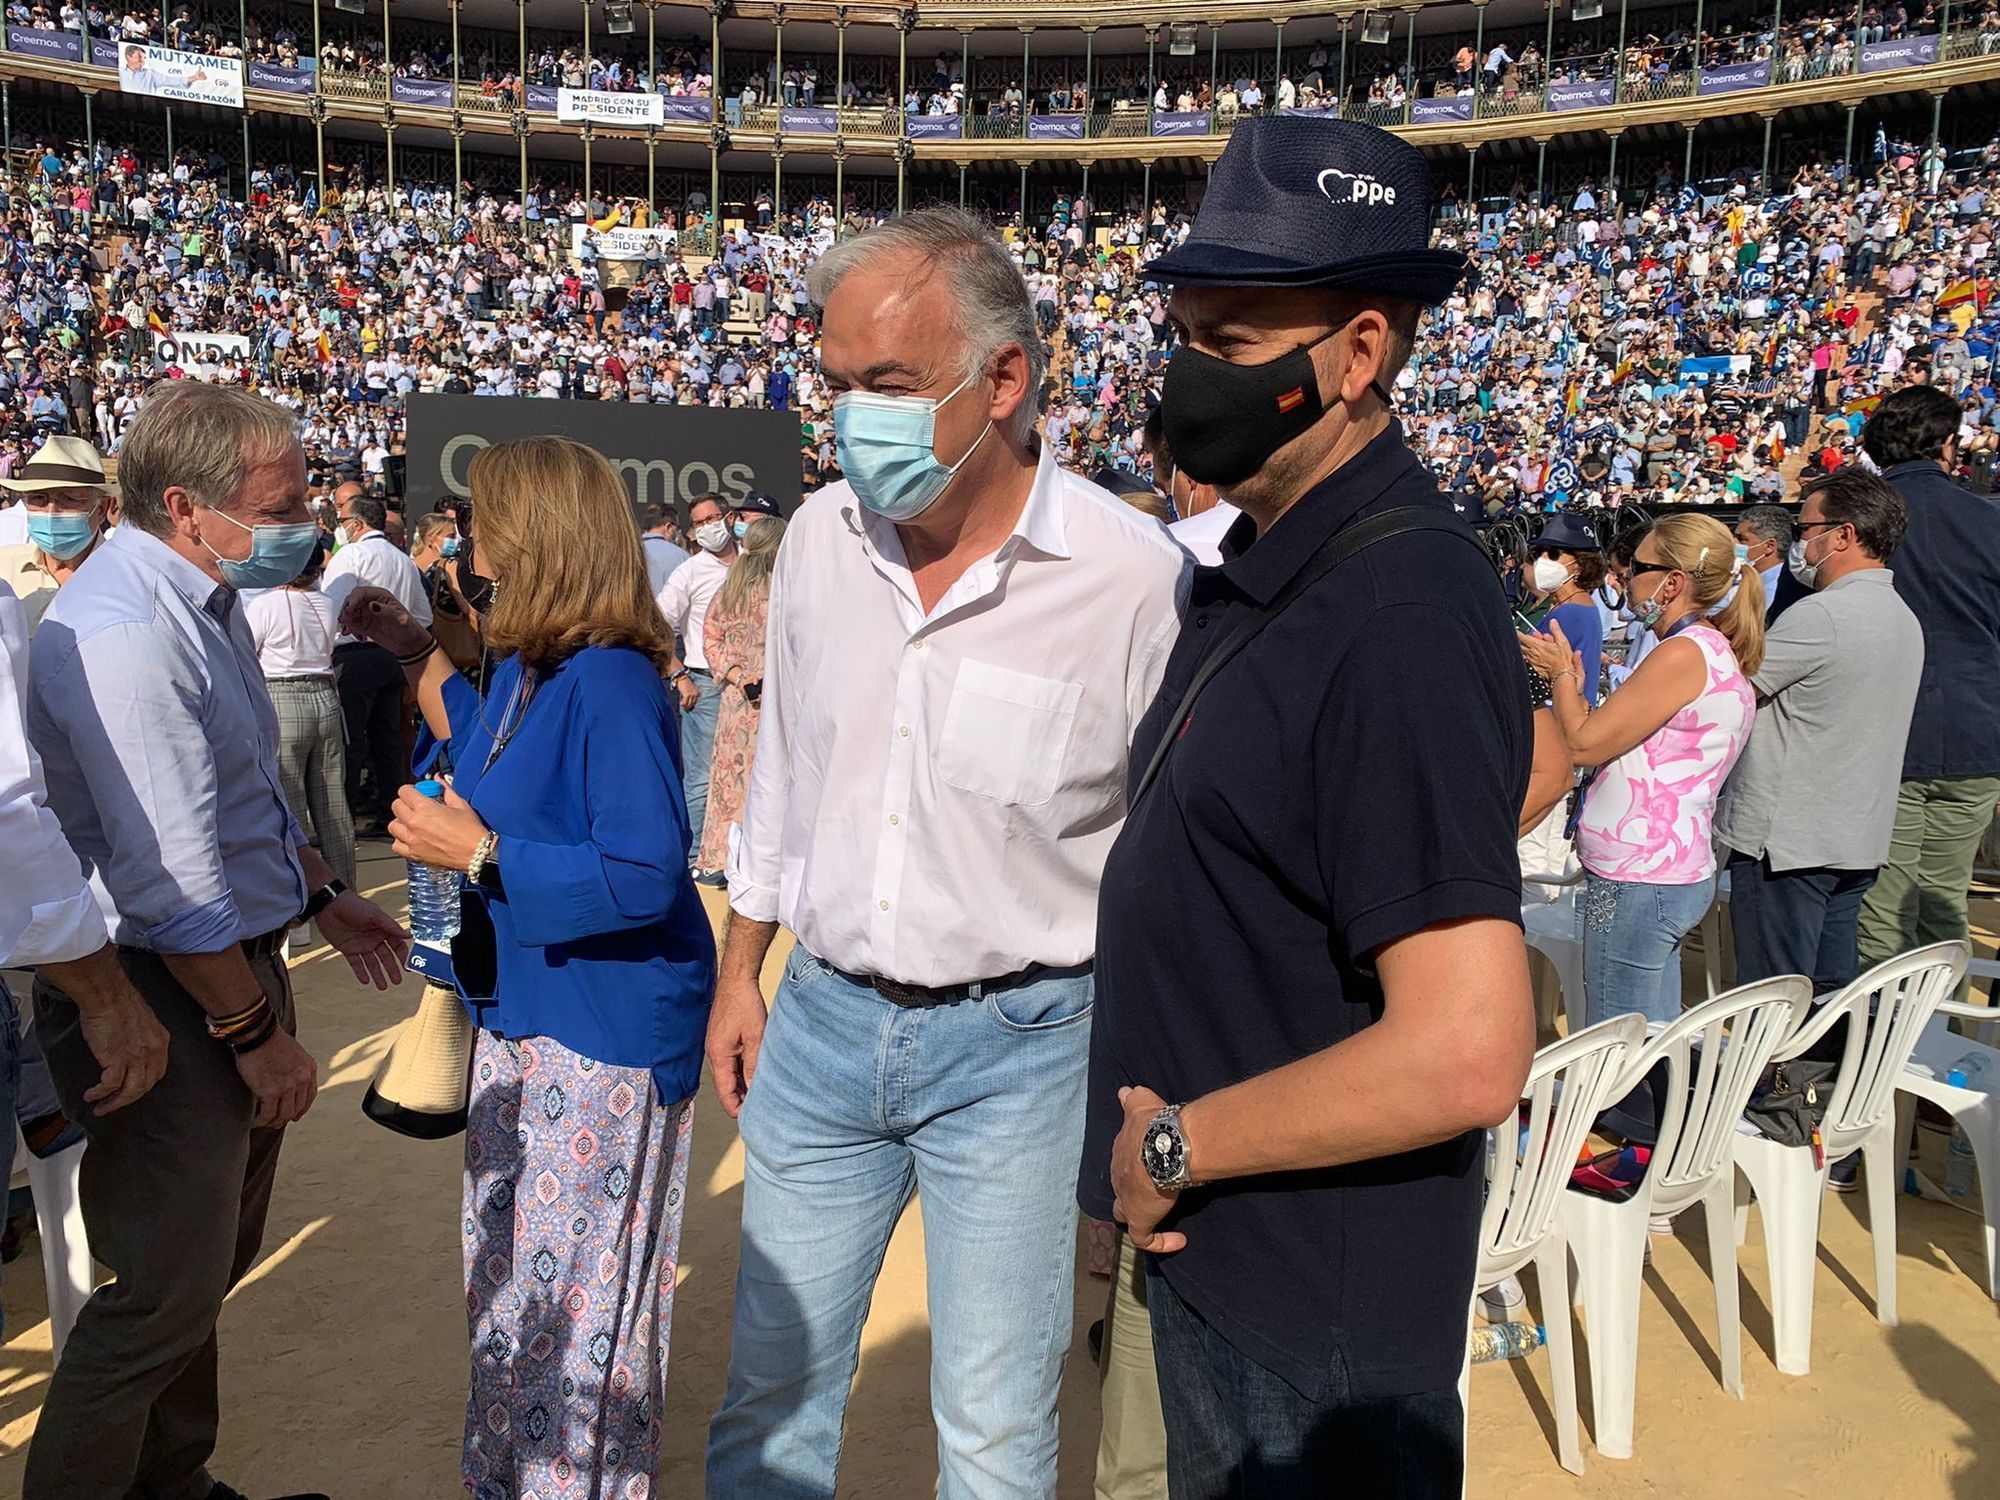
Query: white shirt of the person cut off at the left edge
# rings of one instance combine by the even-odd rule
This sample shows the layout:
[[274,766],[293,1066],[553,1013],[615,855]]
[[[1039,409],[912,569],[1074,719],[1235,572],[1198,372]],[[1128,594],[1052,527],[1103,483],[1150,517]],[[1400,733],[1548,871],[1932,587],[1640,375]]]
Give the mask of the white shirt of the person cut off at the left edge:
[[104,914],[48,810],[42,758],[28,744],[28,622],[0,582],[0,968],[66,964],[104,946]]

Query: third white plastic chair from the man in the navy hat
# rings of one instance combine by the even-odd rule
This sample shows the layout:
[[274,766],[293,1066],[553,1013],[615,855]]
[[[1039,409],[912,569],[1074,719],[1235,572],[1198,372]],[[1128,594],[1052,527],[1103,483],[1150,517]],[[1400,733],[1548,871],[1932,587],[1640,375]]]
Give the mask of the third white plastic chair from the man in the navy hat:
[[1896,1326],[1896,1190],[1902,1160],[1896,1142],[1894,1092],[1910,1054],[1938,1004],[1958,988],[1972,948],[1934,942],[1876,964],[1838,996],[1830,996],[1772,1056],[1790,1062],[1848,1016],[1840,1066],[1826,1080],[1826,1120],[1820,1124],[1822,1160],[1812,1146],[1780,1146],[1762,1134],[1736,1142],[1736,1242],[1742,1244],[1750,1214],[1748,1188],[1764,1214],[1764,1248],[1770,1262],[1770,1320],[1778,1368],[1812,1370],[1812,1280],[1818,1268],[1820,1206],[1826,1172],[1854,1150],[1862,1152],[1868,1180],[1868,1230],[1876,1260],[1876,1318]]

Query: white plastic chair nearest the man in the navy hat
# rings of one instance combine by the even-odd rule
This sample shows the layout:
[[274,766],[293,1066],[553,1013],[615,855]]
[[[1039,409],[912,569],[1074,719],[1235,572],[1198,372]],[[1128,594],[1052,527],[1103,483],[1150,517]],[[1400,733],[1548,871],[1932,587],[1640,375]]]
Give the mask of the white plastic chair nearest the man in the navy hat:
[[[1562,1230],[1562,1190],[1590,1124],[1614,1098],[1620,1064],[1644,1036],[1642,1016],[1614,1016],[1544,1046],[1534,1054],[1528,1082],[1520,1090],[1528,1102],[1528,1124],[1508,1120],[1486,1150],[1486,1210],[1480,1216],[1480,1262],[1472,1278],[1466,1332],[1470,1334],[1480,1292],[1534,1262],[1554,1376],[1556,1452],[1572,1474],[1584,1472],[1584,1454],[1576,1436],[1576,1346],[1570,1334],[1570,1250]],[[1460,1406],[1468,1400],[1470,1372],[1468,1362],[1458,1374]]]

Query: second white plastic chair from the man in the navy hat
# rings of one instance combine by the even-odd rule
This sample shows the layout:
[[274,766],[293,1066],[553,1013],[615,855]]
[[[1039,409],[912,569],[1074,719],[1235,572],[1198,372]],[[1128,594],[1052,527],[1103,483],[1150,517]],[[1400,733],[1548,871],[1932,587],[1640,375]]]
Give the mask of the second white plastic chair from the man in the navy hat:
[[1626,1060],[1610,1098],[1624,1098],[1666,1064],[1652,1162],[1638,1192],[1610,1202],[1562,1194],[1562,1218],[1576,1256],[1576,1300],[1590,1326],[1590,1394],[1598,1452],[1632,1456],[1638,1390],[1638,1296],[1646,1274],[1648,1220],[1694,1204],[1708,1216],[1710,1276],[1716,1284],[1716,1352],[1722,1388],[1744,1394],[1742,1326],[1736,1314],[1736,1224],[1732,1184],[1736,1122],[1758,1074],[1798,1024],[1812,982],[1798,974],[1746,984],[1704,1000]]

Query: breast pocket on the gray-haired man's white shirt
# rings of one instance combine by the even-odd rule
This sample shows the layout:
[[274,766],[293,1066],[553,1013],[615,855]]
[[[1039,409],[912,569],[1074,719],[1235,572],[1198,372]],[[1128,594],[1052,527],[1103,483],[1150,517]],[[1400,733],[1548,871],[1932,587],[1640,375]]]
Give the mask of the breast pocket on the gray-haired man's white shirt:
[[1080,682],[960,662],[938,738],[938,776],[960,792],[1036,806],[1056,794]]

